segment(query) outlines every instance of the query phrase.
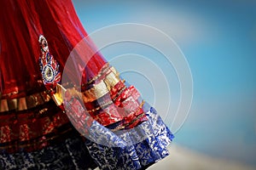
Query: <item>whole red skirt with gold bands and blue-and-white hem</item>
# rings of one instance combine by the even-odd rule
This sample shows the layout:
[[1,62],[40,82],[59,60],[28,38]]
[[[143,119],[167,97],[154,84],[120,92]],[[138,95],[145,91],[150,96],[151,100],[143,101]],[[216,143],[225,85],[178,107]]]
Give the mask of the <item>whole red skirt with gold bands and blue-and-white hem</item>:
[[[2,3],[0,166],[4,169],[86,169],[96,166],[139,169],[168,155],[166,145],[172,140],[172,133],[153,108],[144,106],[136,88],[127,86],[118,72],[96,52],[71,1],[4,0]],[[42,35],[47,44],[42,44],[42,39],[38,42]],[[65,65],[73,48],[85,37],[83,48],[88,50],[78,56],[87,64],[82,73],[78,73],[73,71],[76,60],[69,67]],[[48,64],[49,67],[45,66]],[[51,76],[61,75],[64,68],[67,68],[65,73],[70,83],[62,85],[67,89],[76,88],[75,92],[81,91],[83,95],[82,101],[69,99],[67,111],[54,102],[56,83],[61,81],[51,79]],[[52,74],[47,77],[44,73]],[[79,77],[82,79],[77,88],[74,85]],[[86,108],[83,111],[78,109],[81,102]],[[90,121],[85,122],[84,116],[90,116]],[[86,124],[90,132],[98,129],[102,134],[109,133],[111,140],[116,135],[113,132],[119,129],[138,127],[144,129],[148,139],[132,145],[132,149],[131,145],[110,149],[88,139],[84,143],[70,120],[79,133],[88,133],[84,130]],[[157,128],[150,131],[152,134],[146,129],[147,123],[150,126],[156,123]],[[92,138],[96,139],[100,134],[94,132],[90,137],[95,135]],[[119,135],[114,140],[124,141],[127,135],[130,134]],[[104,138],[100,136],[98,139]],[[110,151],[112,155],[108,155]]]

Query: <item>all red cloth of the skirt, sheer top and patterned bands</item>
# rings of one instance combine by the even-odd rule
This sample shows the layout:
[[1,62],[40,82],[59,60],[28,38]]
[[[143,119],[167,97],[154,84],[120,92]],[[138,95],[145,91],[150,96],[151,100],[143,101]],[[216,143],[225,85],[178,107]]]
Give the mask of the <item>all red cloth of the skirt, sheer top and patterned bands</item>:
[[[142,105],[137,102],[137,90],[132,86],[125,88],[121,81],[110,89],[113,104],[97,113],[91,112],[91,116],[83,110],[78,99],[71,100],[67,115],[52,100],[38,102],[41,97],[34,94],[46,90],[38,62],[42,55],[38,42],[40,35],[47,39],[49,54],[60,65],[61,73],[64,71],[73,83],[79,82],[82,77],[84,89],[93,86],[94,82],[90,85],[86,82],[96,77],[106,64],[101,54],[96,53],[70,0],[3,0],[0,14],[0,105],[2,101],[8,103],[6,99],[14,102],[19,99],[26,100],[28,108],[28,101],[34,101],[31,102],[32,107],[22,111],[17,107],[9,107],[9,111],[0,110],[0,149],[10,152],[20,148],[40,149],[51,139],[71,132],[67,116],[80,133],[88,133],[85,127],[90,127],[94,120],[103,126],[122,121],[125,128],[135,127],[146,120]],[[68,58],[70,54],[74,57]],[[70,59],[69,65],[66,65],[67,59]],[[79,71],[75,70],[77,68]],[[102,74],[97,81],[106,75]],[[23,97],[26,99],[21,100]],[[89,109],[95,107],[93,102],[89,105]]]

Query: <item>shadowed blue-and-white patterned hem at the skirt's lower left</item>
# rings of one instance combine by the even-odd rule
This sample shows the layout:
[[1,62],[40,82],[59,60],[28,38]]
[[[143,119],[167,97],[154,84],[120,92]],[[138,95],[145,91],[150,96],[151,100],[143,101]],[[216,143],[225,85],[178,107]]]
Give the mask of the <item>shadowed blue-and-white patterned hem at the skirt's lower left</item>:
[[73,129],[73,137],[63,139],[43,150],[9,154],[1,150],[2,170],[91,170],[97,167],[90,157],[84,139]]

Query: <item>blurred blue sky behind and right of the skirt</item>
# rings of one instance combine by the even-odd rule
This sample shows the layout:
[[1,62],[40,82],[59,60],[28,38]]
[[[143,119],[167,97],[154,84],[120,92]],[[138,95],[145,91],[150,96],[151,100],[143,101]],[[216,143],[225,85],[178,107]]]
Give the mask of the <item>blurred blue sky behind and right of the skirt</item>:
[[[139,23],[172,37],[189,64],[194,94],[174,142],[256,166],[256,1],[73,0],[73,4],[89,34],[114,24]],[[165,121],[172,128],[181,90],[177,73],[163,54],[136,42],[116,43],[101,51],[144,99],[161,104],[156,107],[159,112],[169,105],[168,85],[171,103]],[[149,71],[139,70],[148,67]],[[154,77],[159,71],[166,82]]]

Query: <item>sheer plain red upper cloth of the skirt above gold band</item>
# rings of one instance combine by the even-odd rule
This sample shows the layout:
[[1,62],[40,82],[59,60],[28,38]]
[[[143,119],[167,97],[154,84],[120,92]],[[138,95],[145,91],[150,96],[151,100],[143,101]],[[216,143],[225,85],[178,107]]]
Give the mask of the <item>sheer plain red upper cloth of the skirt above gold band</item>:
[[[9,93],[26,94],[38,87],[38,80],[41,80],[38,69],[40,34],[48,40],[49,52],[59,62],[61,71],[70,52],[87,36],[70,0],[3,0],[0,14],[0,89],[3,97]],[[94,47],[90,40],[89,43],[84,48]],[[101,55],[95,54],[87,65],[90,75],[85,75],[84,79],[95,76],[104,63]]]

